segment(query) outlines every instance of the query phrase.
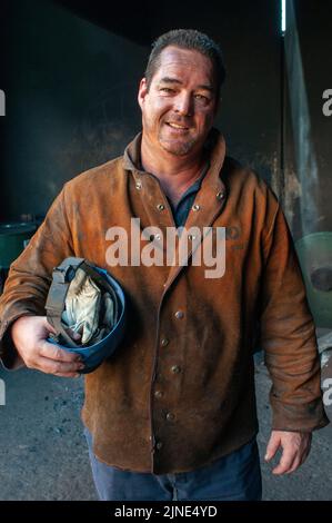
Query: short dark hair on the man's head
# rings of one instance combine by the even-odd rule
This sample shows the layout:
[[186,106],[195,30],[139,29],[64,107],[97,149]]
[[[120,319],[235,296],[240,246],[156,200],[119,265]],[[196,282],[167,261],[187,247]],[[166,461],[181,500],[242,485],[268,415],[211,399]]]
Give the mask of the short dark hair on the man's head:
[[215,75],[217,99],[219,99],[220,88],[225,79],[225,68],[223,63],[220,47],[203,32],[195,29],[172,29],[161,34],[153,43],[145,70],[148,89],[150,88],[153,76],[160,67],[160,55],[169,46],[181,49],[195,50],[210,58]]

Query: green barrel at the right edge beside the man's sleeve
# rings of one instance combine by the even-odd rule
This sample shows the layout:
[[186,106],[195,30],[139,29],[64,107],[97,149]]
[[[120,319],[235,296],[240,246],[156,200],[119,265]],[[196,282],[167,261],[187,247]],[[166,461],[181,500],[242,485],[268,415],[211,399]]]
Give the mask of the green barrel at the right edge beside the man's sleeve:
[[295,243],[316,327],[332,328],[332,233],[313,233]]

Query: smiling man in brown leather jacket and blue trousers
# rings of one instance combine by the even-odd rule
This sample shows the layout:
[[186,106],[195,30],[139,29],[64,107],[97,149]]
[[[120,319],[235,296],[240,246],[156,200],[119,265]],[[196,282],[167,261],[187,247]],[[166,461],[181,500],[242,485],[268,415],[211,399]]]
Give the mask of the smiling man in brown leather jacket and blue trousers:
[[[84,257],[111,266],[127,292],[121,349],[85,377],[82,418],[103,500],[261,497],[256,322],[273,381],[265,458],[282,450],[273,472],[295,471],[311,432],[326,424],[314,325],[282,210],[262,180],[225,157],[212,129],[223,79],[219,48],[205,34],[160,37],[139,88],[142,134],[123,157],[64,186],[1,299],[4,361],[17,351],[28,367],[72,377],[83,364],[46,341],[52,268]],[[158,245],[170,228],[197,230],[179,230],[175,253],[191,241],[187,257],[115,263],[112,228],[130,231],[133,248],[132,218],[140,231],[160,231],[141,238],[141,253],[151,241],[164,255],[168,245]],[[225,228],[225,270],[217,277],[207,276],[204,260],[194,263],[208,243],[203,227],[217,250]]]

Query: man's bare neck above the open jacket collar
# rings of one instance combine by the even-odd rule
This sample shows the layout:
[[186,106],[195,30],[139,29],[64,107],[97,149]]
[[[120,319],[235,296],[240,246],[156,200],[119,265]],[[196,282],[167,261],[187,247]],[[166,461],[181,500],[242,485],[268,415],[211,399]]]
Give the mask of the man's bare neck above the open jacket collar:
[[191,157],[175,156],[168,151],[153,154],[142,139],[141,164],[147,172],[159,178],[163,191],[175,206],[185,190],[200,177],[204,157],[203,152]]

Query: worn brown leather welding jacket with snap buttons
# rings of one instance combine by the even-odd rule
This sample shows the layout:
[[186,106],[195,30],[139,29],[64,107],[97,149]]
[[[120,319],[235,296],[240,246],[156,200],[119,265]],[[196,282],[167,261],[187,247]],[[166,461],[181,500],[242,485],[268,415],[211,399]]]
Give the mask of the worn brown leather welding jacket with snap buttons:
[[[134,217],[142,229],[174,227],[159,180],[135,167],[138,136],[123,157],[64,185],[12,264],[1,297],[3,336],[19,316],[44,315],[52,268],[68,256],[108,269],[123,287],[125,338],[113,358],[85,376],[82,411],[98,458],[122,470],[191,471],[256,434],[258,322],[273,381],[273,428],[312,431],[328,423],[314,325],[284,216],[266,184],[225,158],[222,136],[214,131],[214,138],[185,228],[227,228],[222,277],[207,278],[190,249],[182,266],[107,263],[118,239],[110,239],[110,228],[130,231]],[[148,238],[141,247],[151,240],[158,244]],[[4,334],[4,362],[11,354]]]

